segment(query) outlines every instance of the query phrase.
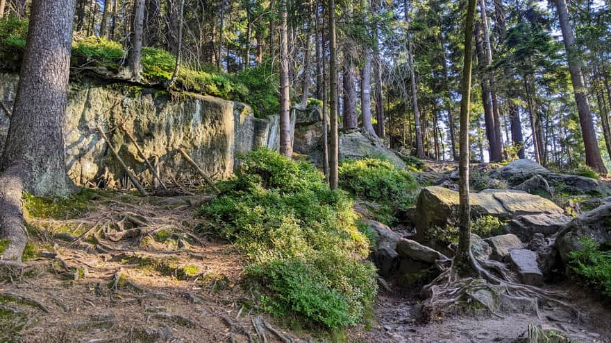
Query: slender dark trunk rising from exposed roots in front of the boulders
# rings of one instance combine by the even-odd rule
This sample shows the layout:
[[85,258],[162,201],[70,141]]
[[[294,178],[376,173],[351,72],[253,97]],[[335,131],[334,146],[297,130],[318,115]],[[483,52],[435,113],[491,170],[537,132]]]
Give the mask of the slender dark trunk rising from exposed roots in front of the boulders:
[[471,274],[471,207],[469,206],[469,106],[471,105],[471,64],[476,0],[468,0],[464,24],[464,67],[460,89],[460,163],[458,173],[458,251],[454,266],[458,274]]

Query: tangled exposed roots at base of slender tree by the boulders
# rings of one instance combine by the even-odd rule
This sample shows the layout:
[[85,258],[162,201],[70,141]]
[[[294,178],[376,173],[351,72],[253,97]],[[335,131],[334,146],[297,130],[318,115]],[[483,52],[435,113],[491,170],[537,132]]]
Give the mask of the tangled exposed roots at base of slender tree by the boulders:
[[470,254],[471,277],[460,277],[455,266],[447,268],[422,289],[426,297],[419,319],[441,320],[451,313],[488,313],[503,317],[503,312],[533,311],[541,317],[542,304],[567,310],[574,321],[580,320],[577,308],[563,301],[562,294],[517,283],[512,273],[496,261],[478,260]]

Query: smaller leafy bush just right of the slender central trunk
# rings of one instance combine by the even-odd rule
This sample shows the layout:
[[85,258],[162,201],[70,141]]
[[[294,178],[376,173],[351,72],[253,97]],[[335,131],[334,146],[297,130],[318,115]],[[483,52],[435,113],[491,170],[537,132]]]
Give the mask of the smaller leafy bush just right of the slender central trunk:
[[[405,211],[416,202],[419,186],[412,175],[399,170],[382,159],[346,160],[340,164],[340,186],[357,197],[389,205],[391,213],[381,211],[387,225],[392,225],[394,215]],[[390,214],[390,216],[388,216]]]

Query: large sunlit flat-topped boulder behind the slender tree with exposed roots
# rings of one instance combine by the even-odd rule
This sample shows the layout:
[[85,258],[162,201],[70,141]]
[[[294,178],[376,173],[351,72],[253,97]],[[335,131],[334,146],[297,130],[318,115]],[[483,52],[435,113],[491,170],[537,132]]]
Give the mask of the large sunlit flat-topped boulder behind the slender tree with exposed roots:
[[[494,216],[509,219],[515,216],[562,213],[553,202],[524,191],[485,190],[471,193],[473,216]],[[458,192],[440,186],[422,188],[416,204],[416,238],[426,242],[429,229],[452,225],[458,218]]]

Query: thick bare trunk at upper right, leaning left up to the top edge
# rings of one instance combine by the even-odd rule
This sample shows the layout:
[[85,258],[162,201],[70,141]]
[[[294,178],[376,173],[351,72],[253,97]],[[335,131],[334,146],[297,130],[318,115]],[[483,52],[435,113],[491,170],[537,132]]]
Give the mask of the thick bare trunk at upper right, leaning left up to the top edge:
[[571,81],[573,82],[575,102],[577,103],[577,112],[579,114],[583,145],[585,148],[585,164],[596,170],[597,173],[606,174],[607,168],[605,168],[605,164],[603,164],[601,151],[596,143],[596,131],[594,131],[594,123],[592,123],[592,114],[589,112],[587,89],[581,71],[582,62],[578,56],[578,51],[576,51],[573,28],[569,23],[567,1],[554,0],[554,2],[558,9],[558,19],[560,21],[560,28],[562,29],[564,48],[567,51],[567,60],[569,61],[569,71],[571,73]]

